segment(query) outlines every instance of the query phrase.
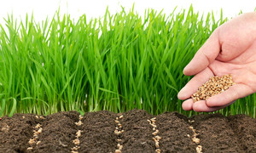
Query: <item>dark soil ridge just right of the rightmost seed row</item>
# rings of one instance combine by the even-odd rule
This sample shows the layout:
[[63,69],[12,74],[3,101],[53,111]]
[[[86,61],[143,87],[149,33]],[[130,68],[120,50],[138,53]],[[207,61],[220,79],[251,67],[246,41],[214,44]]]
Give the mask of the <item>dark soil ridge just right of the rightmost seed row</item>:
[[213,114],[193,116],[192,119],[201,139],[202,152],[244,152],[227,117]]

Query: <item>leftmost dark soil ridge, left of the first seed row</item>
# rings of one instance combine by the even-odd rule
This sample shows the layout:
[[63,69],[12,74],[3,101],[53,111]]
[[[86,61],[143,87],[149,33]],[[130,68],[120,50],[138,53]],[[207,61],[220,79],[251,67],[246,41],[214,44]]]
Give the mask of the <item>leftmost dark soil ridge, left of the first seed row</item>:
[[0,121],[0,152],[26,152],[33,137],[33,127],[39,123],[32,114],[3,116]]

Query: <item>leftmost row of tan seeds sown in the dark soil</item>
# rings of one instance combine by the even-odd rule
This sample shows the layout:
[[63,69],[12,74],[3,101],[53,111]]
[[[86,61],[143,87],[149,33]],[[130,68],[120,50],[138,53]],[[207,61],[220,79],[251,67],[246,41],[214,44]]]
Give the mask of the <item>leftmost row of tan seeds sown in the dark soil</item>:
[[[22,118],[25,118],[25,116],[22,116]],[[44,116],[36,116],[37,119],[44,119]],[[33,130],[33,138],[29,139],[28,144],[30,144],[30,147],[27,148],[27,150],[32,150],[32,145],[34,144],[40,144],[41,141],[38,141],[38,135],[43,132],[43,128],[41,127],[41,124],[37,124],[35,127],[35,130]]]

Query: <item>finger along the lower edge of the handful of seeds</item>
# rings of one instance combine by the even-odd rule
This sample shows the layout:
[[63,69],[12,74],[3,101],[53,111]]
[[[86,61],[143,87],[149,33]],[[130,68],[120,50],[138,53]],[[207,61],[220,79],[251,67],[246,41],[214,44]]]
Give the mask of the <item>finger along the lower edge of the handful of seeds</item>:
[[222,106],[228,105],[230,102],[240,99],[249,94],[253,94],[253,90],[244,84],[235,84],[229,89],[224,91],[222,94],[216,94],[211,98],[207,99],[207,106]]

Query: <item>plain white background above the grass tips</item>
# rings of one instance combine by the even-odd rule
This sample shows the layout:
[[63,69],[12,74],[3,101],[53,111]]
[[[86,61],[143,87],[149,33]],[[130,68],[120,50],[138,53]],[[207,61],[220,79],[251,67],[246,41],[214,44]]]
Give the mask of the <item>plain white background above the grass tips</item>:
[[177,10],[189,8],[193,4],[195,11],[201,14],[213,11],[219,14],[223,8],[224,17],[235,17],[241,10],[243,13],[252,12],[256,7],[256,0],[0,0],[0,24],[7,14],[13,14],[16,19],[25,19],[27,14],[34,14],[36,21],[51,18],[60,8],[61,14],[70,14],[75,20],[80,15],[86,14],[88,18],[102,16],[108,6],[114,14],[124,6],[129,10],[135,3],[135,10],[143,15],[146,8],[154,8],[158,11],[170,14],[177,6]]

